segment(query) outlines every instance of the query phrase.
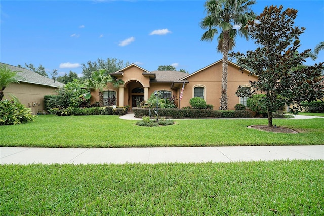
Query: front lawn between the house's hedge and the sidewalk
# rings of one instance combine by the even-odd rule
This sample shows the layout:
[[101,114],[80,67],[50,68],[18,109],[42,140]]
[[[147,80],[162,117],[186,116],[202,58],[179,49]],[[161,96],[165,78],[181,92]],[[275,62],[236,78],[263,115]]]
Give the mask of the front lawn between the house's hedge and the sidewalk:
[[176,120],[164,127],[140,127],[119,116],[41,115],[35,122],[2,126],[0,146],[16,147],[169,147],[324,144],[324,119],[275,119],[274,124],[300,133],[249,129],[267,119]]

